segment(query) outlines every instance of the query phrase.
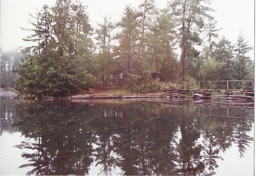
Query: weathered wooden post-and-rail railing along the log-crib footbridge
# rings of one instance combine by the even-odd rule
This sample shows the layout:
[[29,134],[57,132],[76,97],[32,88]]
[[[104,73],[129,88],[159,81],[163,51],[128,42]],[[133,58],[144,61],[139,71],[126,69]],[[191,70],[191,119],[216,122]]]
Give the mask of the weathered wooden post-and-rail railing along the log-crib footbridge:
[[[209,83],[210,87],[209,88],[204,88],[204,89],[209,89],[209,90],[230,90],[229,89],[230,88],[229,82],[251,82],[252,83],[251,84],[252,85],[252,90],[254,90],[254,81],[241,81],[241,80],[226,80],[226,81],[179,81],[179,82],[178,81],[169,81],[164,86],[164,88],[169,84],[169,89],[171,89],[172,88],[172,83],[177,86],[177,85],[180,85],[180,84],[178,84],[180,82],[184,83],[184,89],[187,89],[187,83],[190,83],[190,82],[198,83],[197,84],[198,85],[198,89],[201,89],[200,88],[200,82],[207,82],[207,83]],[[217,82],[226,82],[227,89],[212,89],[212,83],[217,83]],[[194,89],[187,89],[187,90],[194,90]]]

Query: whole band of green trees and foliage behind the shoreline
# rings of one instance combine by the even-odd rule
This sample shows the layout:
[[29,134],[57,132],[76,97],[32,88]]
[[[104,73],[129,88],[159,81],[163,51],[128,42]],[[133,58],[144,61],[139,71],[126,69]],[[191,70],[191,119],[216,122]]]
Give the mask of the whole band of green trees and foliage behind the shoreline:
[[[19,74],[20,94],[66,96],[101,81],[113,83],[113,74],[123,72],[135,90],[147,84],[141,80],[151,80],[148,70],[161,72],[160,81],[187,76],[253,80],[252,58],[246,55],[252,46],[242,32],[236,44],[225,36],[219,39],[221,29],[209,11],[207,0],[174,0],[163,9],[156,8],[154,0],[143,0],[138,8],[127,5],[116,24],[105,16],[92,30],[85,6],[77,0],[57,0],[54,7],[44,5],[30,14],[33,28],[25,29],[31,35],[24,40],[34,44],[22,50],[26,58],[1,51],[1,87],[14,87]],[[196,49],[202,44],[202,50]],[[141,79],[133,81],[132,76]]]

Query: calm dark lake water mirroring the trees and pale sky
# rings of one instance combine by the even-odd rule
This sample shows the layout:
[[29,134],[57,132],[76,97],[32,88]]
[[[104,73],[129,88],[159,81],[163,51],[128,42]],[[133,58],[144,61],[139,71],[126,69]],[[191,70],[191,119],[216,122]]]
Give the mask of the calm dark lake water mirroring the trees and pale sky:
[[1,175],[253,175],[254,109],[1,97]]

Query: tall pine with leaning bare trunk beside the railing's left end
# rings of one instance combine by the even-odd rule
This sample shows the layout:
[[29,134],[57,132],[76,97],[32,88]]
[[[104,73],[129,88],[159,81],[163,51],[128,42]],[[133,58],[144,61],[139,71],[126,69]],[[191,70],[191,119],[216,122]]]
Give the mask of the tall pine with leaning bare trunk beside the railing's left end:
[[207,11],[211,9],[205,6],[208,2],[208,0],[174,0],[170,5],[172,14],[177,16],[180,26],[181,56],[176,81],[180,79],[181,68],[182,76],[185,76],[185,59],[188,56],[188,50],[192,48],[192,45],[201,43],[198,29],[203,27],[204,17],[209,17]]

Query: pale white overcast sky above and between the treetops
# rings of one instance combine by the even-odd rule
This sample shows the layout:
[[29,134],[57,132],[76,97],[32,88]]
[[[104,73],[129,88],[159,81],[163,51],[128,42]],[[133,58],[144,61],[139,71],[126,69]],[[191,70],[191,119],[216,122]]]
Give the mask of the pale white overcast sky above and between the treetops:
[[[81,0],[88,5],[87,12],[91,25],[95,28],[96,22],[102,23],[102,16],[111,16],[115,22],[121,19],[125,5],[133,7],[143,0]],[[159,8],[166,7],[166,0],[155,0]],[[55,0],[1,0],[0,4],[0,46],[4,51],[25,46],[22,41],[29,33],[20,29],[28,27],[29,12],[33,13],[43,4],[53,6]],[[212,16],[218,21],[219,33],[224,35],[232,44],[236,43],[239,30],[244,33],[249,44],[254,46],[254,0],[213,0]],[[254,51],[249,53],[254,58]]]

